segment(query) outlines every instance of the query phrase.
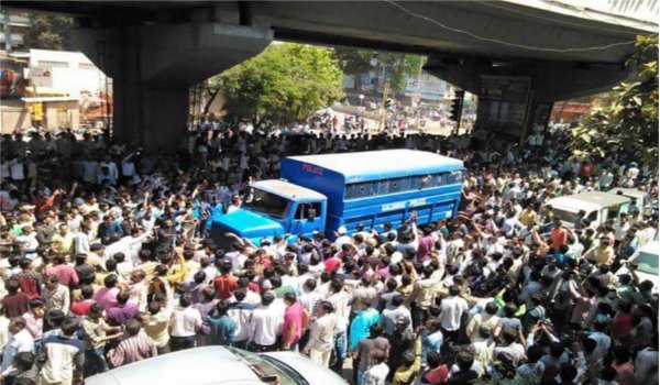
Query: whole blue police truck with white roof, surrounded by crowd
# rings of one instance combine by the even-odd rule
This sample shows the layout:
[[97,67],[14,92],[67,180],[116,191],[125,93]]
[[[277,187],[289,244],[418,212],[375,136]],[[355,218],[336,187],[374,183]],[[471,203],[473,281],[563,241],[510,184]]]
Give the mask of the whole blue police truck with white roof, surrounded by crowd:
[[463,162],[413,150],[292,156],[280,176],[253,184],[254,198],[241,209],[215,212],[211,238],[223,245],[231,242],[228,232],[255,244],[316,231],[334,239],[359,227],[396,228],[411,211],[418,224],[450,219],[461,199]]

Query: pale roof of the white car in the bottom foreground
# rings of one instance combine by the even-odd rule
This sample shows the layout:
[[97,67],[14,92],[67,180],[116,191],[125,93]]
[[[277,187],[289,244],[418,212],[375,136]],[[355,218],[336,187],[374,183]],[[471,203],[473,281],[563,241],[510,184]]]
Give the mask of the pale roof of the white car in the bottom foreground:
[[258,376],[223,346],[160,355],[91,376],[86,385],[258,384]]

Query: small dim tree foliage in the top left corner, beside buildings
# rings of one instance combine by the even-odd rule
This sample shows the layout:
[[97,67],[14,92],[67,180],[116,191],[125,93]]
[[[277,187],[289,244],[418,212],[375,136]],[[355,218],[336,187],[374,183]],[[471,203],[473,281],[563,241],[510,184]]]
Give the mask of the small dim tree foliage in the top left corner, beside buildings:
[[32,28],[25,34],[25,46],[36,50],[72,51],[70,31],[74,19],[54,14],[25,15],[32,19]]

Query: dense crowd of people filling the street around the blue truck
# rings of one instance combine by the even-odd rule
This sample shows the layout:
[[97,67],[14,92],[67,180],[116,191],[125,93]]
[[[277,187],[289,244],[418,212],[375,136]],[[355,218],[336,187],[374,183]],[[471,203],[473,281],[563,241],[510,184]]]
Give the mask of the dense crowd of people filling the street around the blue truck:
[[[627,262],[657,240],[657,208],[594,227],[547,205],[614,186],[657,200],[657,165],[575,162],[562,131],[525,148],[488,135],[210,122],[176,154],[70,131],[3,135],[2,383],[78,384],[219,344],[298,351],[361,385],[657,384],[657,287]],[[392,147],[464,161],[455,218],[258,245],[234,234],[227,250],[209,238],[212,212],[240,209],[285,156]]]

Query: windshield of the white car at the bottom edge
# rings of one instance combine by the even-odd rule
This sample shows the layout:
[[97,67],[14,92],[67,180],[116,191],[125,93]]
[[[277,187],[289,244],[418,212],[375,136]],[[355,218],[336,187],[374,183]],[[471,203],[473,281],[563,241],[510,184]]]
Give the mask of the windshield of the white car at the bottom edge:
[[305,385],[307,382],[290,367],[266,355],[258,355],[244,350],[229,348],[239,356],[265,384]]

